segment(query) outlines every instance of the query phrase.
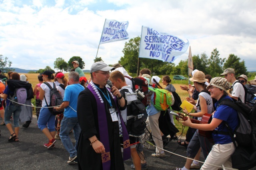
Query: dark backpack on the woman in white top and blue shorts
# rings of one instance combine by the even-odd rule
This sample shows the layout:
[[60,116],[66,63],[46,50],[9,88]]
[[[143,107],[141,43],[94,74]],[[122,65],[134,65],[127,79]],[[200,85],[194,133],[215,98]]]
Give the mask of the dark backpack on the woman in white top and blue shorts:
[[44,82],[44,84],[46,84],[50,88],[50,104],[49,105],[47,104],[46,98],[44,96],[44,100],[46,102],[46,105],[47,105],[49,111],[53,115],[58,115],[60,113],[63,113],[63,111],[61,111],[61,110],[58,111],[56,109],[53,109],[53,107],[52,107],[52,106],[60,106],[63,102],[63,99],[60,95],[60,92],[57,90],[55,83],[53,83],[53,88],[48,82]]

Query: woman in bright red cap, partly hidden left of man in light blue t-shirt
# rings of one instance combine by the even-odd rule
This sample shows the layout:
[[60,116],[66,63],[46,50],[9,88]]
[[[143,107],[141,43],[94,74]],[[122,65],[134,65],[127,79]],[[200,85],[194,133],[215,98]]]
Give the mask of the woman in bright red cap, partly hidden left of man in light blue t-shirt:
[[[57,79],[57,81],[59,83],[59,85],[56,88],[60,92],[61,97],[63,99],[64,98],[64,93],[65,93],[65,88],[67,86],[68,80],[65,78],[65,75],[62,72],[59,72],[55,76],[55,78]],[[54,139],[60,140],[60,123],[63,119],[63,116],[64,116],[63,113],[60,113],[60,114],[57,115],[58,124],[57,124],[57,127],[56,127],[57,132],[56,132],[56,135],[55,135]]]

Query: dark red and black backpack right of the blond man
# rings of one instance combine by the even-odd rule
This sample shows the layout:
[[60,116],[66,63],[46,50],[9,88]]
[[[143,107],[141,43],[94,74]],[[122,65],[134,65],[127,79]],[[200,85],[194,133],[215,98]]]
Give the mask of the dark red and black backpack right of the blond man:
[[[146,95],[148,94],[148,81],[143,77],[135,77],[135,78],[130,78],[129,76],[124,76],[124,77],[132,80],[132,89],[135,92],[137,92],[137,93],[142,92],[144,97],[141,97],[140,95],[138,95],[138,99],[144,104],[144,106],[147,106],[148,102],[147,102]],[[140,92],[138,92],[136,90],[139,90]]]

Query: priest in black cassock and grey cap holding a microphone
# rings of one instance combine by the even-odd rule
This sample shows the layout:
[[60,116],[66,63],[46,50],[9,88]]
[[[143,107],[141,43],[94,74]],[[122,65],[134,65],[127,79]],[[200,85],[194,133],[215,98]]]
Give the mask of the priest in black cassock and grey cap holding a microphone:
[[[124,170],[130,158],[130,141],[124,121],[118,125],[117,114],[126,108],[126,100],[113,86],[106,88],[110,70],[102,61],[92,64],[92,81],[78,96],[77,115],[81,127],[77,158],[80,170]],[[120,116],[121,117],[121,116]],[[119,128],[123,131],[124,155]]]

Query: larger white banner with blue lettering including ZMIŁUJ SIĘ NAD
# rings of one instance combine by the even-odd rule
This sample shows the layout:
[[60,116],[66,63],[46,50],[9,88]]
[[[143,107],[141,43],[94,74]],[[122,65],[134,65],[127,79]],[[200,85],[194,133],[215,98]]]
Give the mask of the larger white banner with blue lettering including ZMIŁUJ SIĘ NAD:
[[139,57],[173,63],[187,51],[188,46],[189,42],[185,43],[174,35],[158,33],[155,29],[142,26]]

